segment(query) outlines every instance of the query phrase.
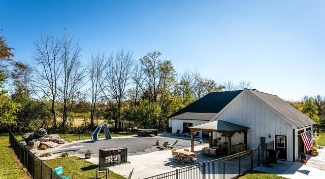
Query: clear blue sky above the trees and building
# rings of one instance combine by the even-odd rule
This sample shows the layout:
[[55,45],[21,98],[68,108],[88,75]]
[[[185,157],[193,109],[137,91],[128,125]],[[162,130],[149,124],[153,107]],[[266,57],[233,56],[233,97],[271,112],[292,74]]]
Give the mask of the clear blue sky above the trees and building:
[[325,1],[3,1],[0,29],[30,62],[41,33],[66,28],[91,51],[160,51],[178,72],[249,80],[283,99],[325,95]]

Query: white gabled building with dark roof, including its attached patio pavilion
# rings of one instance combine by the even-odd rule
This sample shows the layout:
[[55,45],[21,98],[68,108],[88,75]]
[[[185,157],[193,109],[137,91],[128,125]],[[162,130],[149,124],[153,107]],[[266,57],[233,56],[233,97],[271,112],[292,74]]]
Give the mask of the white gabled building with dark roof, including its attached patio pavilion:
[[[215,115],[208,120],[212,112]],[[200,120],[200,116],[206,117]],[[173,132],[181,129],[181,123],[192,123],[192,133],[210,132],[212,139],[219,138],[221,148],[244,144],[249,149],[274,140],[279,158],[290,161],[304,152],[299,134],[316,124],[278,96],[250,89],[209,93],[170,117]],[[231,149],[228,147],[229,152]]]

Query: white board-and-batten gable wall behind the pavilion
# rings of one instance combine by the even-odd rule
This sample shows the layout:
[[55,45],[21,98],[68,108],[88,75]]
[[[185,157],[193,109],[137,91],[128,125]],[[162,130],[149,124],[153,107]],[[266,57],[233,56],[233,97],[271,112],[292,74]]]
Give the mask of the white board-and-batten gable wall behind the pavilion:
[[[258,147],[261,137],[265,137],[266,142],[270,142],[274,140],[274,135],[286,135],[287,160],[293,160],[293,125],[257,97],[247,92],[240,94],[213,120],[223,120],[249,127],[247,134],[248,149]],[[269,138],[269,134],[271,134],[271,138]],[[242,138],[242,135],[234,135],[232,145],[243,142]]]

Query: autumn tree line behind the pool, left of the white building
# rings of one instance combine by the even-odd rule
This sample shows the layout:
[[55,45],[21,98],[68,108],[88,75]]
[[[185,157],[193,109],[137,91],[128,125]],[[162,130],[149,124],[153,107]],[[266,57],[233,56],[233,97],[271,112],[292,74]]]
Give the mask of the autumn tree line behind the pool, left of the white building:
[[135,60],[130,50],[98,50],[84,60],[79,40],[67,31],[42,34],[31,62],[23,64],[12,59],[14,49],[0,37],[0,100],[7,102],[0,105],[0,127],[69,131],[78,117],[85,129],[102,119],[115,130],[163,131],[168,116],[209,92],[252,88],[246,80],[217,83],[197,70],[177,73],[158,51]]

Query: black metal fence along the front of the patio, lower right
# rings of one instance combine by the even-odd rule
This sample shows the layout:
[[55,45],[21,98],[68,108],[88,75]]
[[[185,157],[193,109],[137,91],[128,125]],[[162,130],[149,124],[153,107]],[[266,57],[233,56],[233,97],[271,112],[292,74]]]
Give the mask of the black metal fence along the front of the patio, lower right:
[[257,148],[144,179],[230,179],[267,161],[273,141]]

